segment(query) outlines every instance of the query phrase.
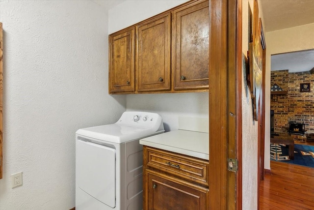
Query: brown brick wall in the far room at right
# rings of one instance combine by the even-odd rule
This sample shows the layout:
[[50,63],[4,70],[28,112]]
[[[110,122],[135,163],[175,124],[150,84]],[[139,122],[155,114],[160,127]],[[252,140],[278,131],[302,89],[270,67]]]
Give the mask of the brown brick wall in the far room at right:
[[[289,121],[305,123],[305,129],[314,133],[314,74],[271,71],[271,86],[279,85],[288,94],[273,94],[270,109],[274,110],[274,131],[287,131]],[[310,83],[310,92],[300,92],[301,83]]]

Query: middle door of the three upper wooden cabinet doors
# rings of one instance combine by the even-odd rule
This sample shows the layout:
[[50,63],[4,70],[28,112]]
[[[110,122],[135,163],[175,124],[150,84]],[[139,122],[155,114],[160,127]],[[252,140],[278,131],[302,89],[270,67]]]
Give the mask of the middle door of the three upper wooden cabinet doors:
[[136,26],[137,91],[171,89],[171,13]]

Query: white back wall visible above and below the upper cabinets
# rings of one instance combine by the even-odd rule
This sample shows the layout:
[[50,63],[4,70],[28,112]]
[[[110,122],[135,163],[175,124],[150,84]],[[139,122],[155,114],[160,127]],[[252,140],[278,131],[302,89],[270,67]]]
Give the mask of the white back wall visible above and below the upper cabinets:
[[[127,0],[109,10],[109,33],[124,29],[186,0]],[[158,93],[127,95],[127,111],[156,112],[166,131],[178,129],[178,117],[208,118],[209,93]]]

